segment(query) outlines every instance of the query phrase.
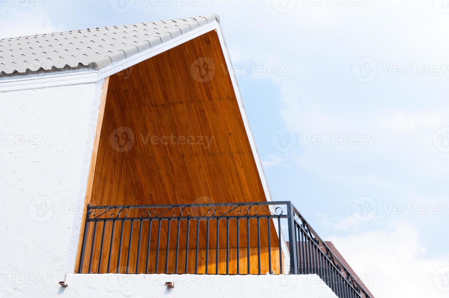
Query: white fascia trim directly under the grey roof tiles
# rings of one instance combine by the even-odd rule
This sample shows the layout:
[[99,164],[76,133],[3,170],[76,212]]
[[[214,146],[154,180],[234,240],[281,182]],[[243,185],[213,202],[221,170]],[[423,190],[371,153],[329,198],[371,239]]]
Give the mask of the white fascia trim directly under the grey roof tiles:
[[175,37],[174,39],[170,39],[163,44],[158,44],[153,48],[142,51],[141,53],[137,53],[136,55],[132,55],[128,58],[105,66],[100,70],[88,66],[80,66],[76,68],[1,75],[0,92],[95,83],[121,70],[136,65],[141,61],[154,57],[191,39],[203,35],[209,31],[216,30],[217,27],[218,22],[210,22],[204,26],[198,27],[193,31],[189,31],[183,35]]

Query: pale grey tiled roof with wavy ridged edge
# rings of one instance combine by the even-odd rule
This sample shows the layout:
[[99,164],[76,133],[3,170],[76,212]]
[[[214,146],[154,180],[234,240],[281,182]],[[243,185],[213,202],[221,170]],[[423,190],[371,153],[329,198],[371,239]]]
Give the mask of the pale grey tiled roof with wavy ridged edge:
[[0,39],[0,74],[100,69],[213,21],[220,22],[218,15]]

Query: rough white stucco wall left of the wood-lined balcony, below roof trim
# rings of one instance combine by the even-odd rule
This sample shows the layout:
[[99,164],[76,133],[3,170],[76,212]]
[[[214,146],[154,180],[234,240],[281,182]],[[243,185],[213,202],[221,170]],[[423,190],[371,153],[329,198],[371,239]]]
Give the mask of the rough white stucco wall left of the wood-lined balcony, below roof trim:
[[0,298],[73,273],[101,87],[0,92]]

